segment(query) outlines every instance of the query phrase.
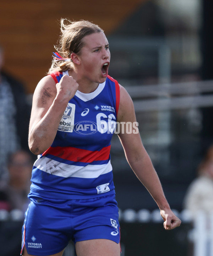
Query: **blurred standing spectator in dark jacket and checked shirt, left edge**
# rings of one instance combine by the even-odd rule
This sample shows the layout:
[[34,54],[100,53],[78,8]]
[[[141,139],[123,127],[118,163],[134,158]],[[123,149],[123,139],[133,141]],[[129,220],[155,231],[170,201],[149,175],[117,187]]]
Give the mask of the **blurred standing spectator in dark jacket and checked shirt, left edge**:
[[3,49],[0,46],[0,179],[6,175],[8,153],[28,149],[30,107],[23,85],[2,71]]

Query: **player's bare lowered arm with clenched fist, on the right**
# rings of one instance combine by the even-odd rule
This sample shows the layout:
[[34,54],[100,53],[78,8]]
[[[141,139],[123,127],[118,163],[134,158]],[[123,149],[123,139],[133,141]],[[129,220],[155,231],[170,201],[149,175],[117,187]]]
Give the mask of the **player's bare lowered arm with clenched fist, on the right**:
[[[120,89],[120,105],[117,121],[121,124],[118,136],[124,148],[126,159],[137,178],[157,203],[164,220],[164,228],[169,230],[180,226],[181,220],[171,211],[169,203],[164,196],[158,175],[141,141],[140,133],[135,128],[136,116],[132,99],[122,86]],[[127,122],[132,124],[132,132],[129,132],[130,127],[126,127]]]

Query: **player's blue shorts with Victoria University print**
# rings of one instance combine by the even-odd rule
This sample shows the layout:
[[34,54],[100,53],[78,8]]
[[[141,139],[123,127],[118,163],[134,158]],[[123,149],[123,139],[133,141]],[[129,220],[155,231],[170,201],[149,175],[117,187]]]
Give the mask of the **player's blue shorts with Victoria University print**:
[[[73,240],[109,239],[120,242],[115,195],[81,200],[47,199],[30,194],[22,228],[22,250],[51,255]],[[22,253],[22,252],[21,252]]]

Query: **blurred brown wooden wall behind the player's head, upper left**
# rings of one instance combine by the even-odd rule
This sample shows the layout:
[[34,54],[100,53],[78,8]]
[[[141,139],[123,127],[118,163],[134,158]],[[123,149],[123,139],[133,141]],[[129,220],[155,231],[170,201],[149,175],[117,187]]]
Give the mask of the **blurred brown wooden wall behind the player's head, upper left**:
[[113,32],[146,0],[0,0],[0,45],[6,71],[33,93],[51,64],[61,17],[89,20]]

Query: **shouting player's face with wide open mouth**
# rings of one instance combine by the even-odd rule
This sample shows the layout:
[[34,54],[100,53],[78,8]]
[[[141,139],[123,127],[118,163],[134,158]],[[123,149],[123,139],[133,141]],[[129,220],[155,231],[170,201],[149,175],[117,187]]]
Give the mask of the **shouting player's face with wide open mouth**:
[[103,32],[93,33],[83,38],[81,49],[82,76],[91,82],[103,83],[108,75],[110,62],[109,43]]

